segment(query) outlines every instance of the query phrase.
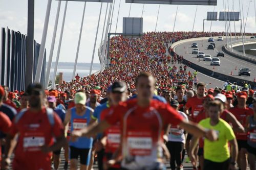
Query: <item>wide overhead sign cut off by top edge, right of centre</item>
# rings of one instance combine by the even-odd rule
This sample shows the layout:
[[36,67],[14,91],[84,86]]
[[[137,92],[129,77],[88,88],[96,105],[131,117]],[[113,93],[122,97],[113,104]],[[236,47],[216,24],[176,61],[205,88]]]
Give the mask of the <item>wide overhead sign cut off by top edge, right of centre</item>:
[[217,0],[125,0],[125,3],[173,4],[173,5],[217,5]]

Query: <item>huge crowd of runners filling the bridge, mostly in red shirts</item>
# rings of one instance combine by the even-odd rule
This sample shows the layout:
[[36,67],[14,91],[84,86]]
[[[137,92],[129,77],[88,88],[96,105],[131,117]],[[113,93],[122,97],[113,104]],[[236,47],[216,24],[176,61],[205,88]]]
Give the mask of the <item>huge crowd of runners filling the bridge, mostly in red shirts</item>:
[[221,35],[116,36],[110,65],[97,75],[50,90],[0,86],[2,169],[77,169],[78,160],[80,169],[91,169],[97,155],[99,169],[165,169],[169,159],[174,170],[187,153],[193,169],[245,170],[248,160],[255,170],[255,91],[246,83],[241,91],[206,89],[167,46]]

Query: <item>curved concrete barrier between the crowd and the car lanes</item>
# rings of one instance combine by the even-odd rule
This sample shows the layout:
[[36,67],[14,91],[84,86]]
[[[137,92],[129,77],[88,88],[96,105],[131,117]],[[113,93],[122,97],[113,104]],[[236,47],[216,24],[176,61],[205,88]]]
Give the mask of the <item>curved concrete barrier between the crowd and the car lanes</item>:
[[[181,40],[180,41],[177,41],[175,43],[172,44],[172,48],[175,52],[175,47],[180,45],[180,44],[183,44],[183,43],[186,43],[186,42],[189,42],[189,41],[198,41],[198,40],[205,40],[205,39],[208,39],[209,37],[200,37],[200,38],[192,38],[192,39],[185,39],[185,40]],[[216,38],[216,37],[214,37]],[[218,38],[218,37],[217,37]],[[176,52],[175,52],[176,53]],[[177,54],[177,53],[176,53]],[[177,54],[179,55],[179,54]],[[224,75],[224,74],[221,74],[220,72],[215,72],[215,71],[212,71],[210,69],[207,69],[205,67],[202,67],[200,65],[197,65],[195,63],[192,63],[188,60],[186,60],[185,58],[183,59],[183,64],[186,64],[187,66],[201,72],[202,74],[204,75],[207,75],[209,77],[213,77],[213,78],[216,78],[216,79],[219,79],[219,80],[222,80],[222,81],[227,81],[229,80],[230,82],[237,82],[239,86],[242,86],[243,85],[243,82],[246,81],[246,80],[243,80],[243,79],[239,79],[239,78],[236,78],[236,77],[232,77],[232,76],[228,76],[228,75]],[[248,81],[251,85],[252,88],[255,88],[256,87],[256,82],[252,82],[252,81]]]

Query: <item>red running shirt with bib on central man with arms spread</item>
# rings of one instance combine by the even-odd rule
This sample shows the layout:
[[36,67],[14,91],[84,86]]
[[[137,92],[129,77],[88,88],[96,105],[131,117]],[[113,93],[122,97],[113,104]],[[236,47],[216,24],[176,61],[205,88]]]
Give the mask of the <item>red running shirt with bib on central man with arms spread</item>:
[[111,125],[120,122],[122,166],[140,169],[161,162],[164,127],[179,125],[183,118],[167,104],[152,100],[150,106],[140,107],[137,99],[133,99],[120,103],[105,120]]

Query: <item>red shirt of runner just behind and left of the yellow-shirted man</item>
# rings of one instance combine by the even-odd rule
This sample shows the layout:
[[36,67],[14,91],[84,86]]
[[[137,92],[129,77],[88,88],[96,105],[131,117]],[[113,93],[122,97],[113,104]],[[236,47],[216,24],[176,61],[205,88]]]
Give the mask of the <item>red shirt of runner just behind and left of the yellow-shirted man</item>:
[[193,122],[196,122],[197,115],[204,109],[203,100],[198,99],[197,97],[189,98],[185,107],[187,109],[191,108],[191,118]]

